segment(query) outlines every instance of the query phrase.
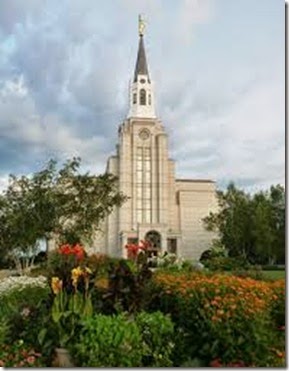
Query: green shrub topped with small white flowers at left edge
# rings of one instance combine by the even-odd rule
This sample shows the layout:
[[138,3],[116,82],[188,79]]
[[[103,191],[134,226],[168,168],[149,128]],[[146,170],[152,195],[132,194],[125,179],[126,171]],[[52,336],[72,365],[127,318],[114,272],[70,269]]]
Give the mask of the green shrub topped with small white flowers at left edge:
[[[50,321],[52,297],[45,277],[9,277],[0,283],[0,316],[5,320],[7,347],[24,341],[26,347],[42,351],[46,360],[52,356],[54,333]],[[49,339],[39,342],[39,334],[45,328]],[[8,349],[8,348],[7,348]]]

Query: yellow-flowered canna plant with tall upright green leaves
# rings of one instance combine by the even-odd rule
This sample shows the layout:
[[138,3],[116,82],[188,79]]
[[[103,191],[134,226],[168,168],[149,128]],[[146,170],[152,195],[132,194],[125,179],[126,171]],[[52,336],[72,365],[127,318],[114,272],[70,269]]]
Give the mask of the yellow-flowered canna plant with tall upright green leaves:
[[[92,315],[92,302],[89,293],[91,270],[78,266],[71,270],[73,292],[67,293],[63,281],[52,277],[51,288],[54,293],[52,305],[52,320],[57,325],[59,345],[65,347],[75,332],[75,326],[80,318]],[[84,292],[78,289],[80,279],[84,281]]]

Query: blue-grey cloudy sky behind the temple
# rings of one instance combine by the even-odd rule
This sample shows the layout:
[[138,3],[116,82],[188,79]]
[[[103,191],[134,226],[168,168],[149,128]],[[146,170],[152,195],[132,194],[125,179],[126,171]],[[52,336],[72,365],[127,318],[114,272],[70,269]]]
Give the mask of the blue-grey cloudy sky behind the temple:
[[105,170],[139,13],[177,177],[284,184],[284,0],[1,0],[0,189],[50,158]]

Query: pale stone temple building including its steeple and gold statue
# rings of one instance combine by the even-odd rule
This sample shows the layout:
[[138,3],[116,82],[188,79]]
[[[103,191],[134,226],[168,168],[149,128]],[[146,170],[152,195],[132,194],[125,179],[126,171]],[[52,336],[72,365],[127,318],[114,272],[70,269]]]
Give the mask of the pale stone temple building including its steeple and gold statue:
[[168,135],[156,116],[143,31],[140,19],[128,115],[119,126],[116,154],[106,168],[118,177],[119,191],[128,200],[107,217],[91,252],[126,257],[127,243],[149,240],[155,253],[199,259],[214,237],[204,229],[202,219],[216,210],[215,182],[175,178]]

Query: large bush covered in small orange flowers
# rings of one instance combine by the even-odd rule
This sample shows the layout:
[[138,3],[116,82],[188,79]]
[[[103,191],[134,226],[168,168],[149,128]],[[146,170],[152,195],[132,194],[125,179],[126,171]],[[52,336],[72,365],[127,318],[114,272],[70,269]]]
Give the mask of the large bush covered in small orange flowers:
[[155,281],[154,308],[170,313],[177,327],[176,365],[188,355],[207,366],[216,360],[222,366],[284,362],[284,344],[276,347],[277,328],[270,318],[271,283],[200,273],[159,273]]

